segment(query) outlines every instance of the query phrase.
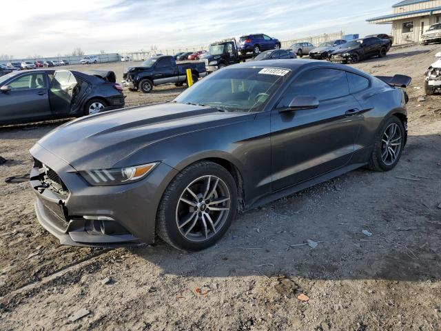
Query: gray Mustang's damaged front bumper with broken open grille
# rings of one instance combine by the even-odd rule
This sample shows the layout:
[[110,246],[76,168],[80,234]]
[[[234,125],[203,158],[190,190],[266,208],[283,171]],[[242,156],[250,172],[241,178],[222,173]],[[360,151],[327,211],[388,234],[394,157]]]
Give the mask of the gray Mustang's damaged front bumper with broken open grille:
[[37,219],[61,244],[118,247],[154,242],[156,209],[176,170],[159,163],[142,181],[91,186],[38,144],[30,152]]

